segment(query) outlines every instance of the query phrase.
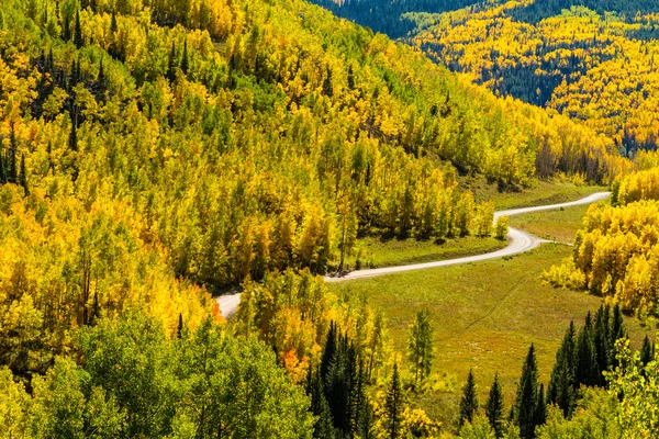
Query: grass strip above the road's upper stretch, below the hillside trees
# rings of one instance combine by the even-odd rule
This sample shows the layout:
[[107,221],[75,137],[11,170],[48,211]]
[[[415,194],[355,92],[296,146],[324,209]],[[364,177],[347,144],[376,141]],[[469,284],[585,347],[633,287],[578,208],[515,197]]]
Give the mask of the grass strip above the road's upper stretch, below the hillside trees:
[[532,189],[520,191],[500,191],[483,178],[467,178],[461,181],[463,189],[469,189],[478,202],[492,200],[496,210],[537,206],[565,203],[579,200],[594,192],[606,191],[606,187],[576,185],[567,181],[538,181]]

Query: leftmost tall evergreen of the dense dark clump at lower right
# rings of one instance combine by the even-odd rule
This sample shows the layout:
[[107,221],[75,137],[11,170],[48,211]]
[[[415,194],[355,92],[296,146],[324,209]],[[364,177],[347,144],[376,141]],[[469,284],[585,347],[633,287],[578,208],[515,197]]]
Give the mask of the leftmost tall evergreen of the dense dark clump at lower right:
[[556,363],[547,389],[547,401],[560,407],[566,418],[570,417],[574,408],[574,323],[570,322],[563,341],[556,352]]

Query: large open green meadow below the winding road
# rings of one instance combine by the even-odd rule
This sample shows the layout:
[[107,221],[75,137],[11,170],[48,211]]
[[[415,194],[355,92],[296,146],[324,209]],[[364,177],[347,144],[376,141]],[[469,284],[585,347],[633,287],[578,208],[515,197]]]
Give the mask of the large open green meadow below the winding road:
[[[436,379],[453,382],[445,390],[412,396],[412,403],[447,428],[457,423],[460,387],[473,369],[481,403],[499,372],[510,407],[523,359],[532,342],[538,356],[540,380],[547,383],[556,350],[570,320],[583,322],[600,297],[544,285],[539,274],[570,255],[562,245],[473,264],[413,271],[333,284],[338,293],[364,294],[384,312],[396,352],[405,352],[407,327],[414,314],[427,307],[435,327]],[[645,330],[628,319],[634,345]]]

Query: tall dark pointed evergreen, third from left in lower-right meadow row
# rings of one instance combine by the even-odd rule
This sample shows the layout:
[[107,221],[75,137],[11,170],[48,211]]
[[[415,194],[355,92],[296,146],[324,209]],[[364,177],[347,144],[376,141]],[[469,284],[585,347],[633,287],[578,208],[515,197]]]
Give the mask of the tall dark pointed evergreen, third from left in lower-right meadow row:
[[535,356],[535,347],[530,345],[522,368],[522,379],[517,387],[514,410],[515,421],[520,427],[520,437],[522,439],[532,439],[535,437],[537,397],[538,364]]

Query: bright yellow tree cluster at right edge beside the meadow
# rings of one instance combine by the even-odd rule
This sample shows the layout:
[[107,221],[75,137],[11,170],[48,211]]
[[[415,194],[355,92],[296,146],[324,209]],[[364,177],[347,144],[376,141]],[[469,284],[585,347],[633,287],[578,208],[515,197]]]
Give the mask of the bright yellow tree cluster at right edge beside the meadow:
[[614,205],[594,205],[574,239],[573,256],[545,278],[612,296],[624,309],[657,314],[659,306],[659,171],[614,183]]

